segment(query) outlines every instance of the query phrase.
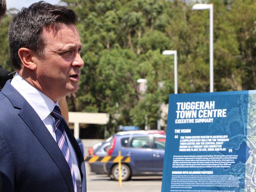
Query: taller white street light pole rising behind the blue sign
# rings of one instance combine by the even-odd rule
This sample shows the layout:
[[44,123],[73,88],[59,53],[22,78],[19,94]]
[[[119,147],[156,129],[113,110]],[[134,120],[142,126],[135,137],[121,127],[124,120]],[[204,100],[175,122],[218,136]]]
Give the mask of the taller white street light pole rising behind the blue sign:
[[192,9],[210,9],[210,92],[213,92],[213,4],[195,4]]

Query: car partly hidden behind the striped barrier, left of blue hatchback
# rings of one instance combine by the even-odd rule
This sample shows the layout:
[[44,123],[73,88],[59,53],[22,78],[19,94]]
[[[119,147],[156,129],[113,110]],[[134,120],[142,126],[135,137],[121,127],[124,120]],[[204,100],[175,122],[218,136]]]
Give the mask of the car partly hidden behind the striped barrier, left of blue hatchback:
[[[98,146],[94,151],[93,151],[93,156],[99,156],[99,157],[104,157],[108,155],[107,153],[107,147],[110,145],[110,142],[101,142],[101,145]],[[95,174],[105,174],[104,172],[104,163],[103,162],[90,162],[89,166],[91,168],[91,172]]]

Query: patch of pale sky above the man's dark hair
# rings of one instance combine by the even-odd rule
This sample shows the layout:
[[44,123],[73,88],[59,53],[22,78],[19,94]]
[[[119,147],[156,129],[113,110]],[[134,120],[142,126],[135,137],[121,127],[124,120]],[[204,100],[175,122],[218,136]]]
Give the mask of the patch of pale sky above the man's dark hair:
[[[39,2],[40,0],[6,0],[7,9],[16,8],[21,10],[22,7],[28,7],[32,3]],[[45,0],[50,4],[58,4],[60,0]]]

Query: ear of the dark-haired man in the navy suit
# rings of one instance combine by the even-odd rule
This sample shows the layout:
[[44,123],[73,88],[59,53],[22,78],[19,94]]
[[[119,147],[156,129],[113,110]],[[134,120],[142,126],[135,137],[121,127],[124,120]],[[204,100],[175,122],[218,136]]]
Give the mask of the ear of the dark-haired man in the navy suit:
[[24,67],[35,70],[37,65],[35,64],[35,53],[28,48],[20,48],[18,51],[18,55],[20,57],[20,61]]

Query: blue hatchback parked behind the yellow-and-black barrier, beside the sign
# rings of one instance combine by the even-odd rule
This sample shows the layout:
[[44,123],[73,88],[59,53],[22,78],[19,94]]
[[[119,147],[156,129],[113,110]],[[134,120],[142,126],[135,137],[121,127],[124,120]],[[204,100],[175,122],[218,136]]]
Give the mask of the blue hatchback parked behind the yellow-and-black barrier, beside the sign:
[[[165,135],[155,131],[126,131],[117,133],[111,139],[107,148],[108,155],[130,156],[129,163],[122,163],[122,181],[129,180],[132,176],[162,175],[163,157],[165,149]],[[119,179],[117,163],[104,164],[104,171],[111,179]]]

